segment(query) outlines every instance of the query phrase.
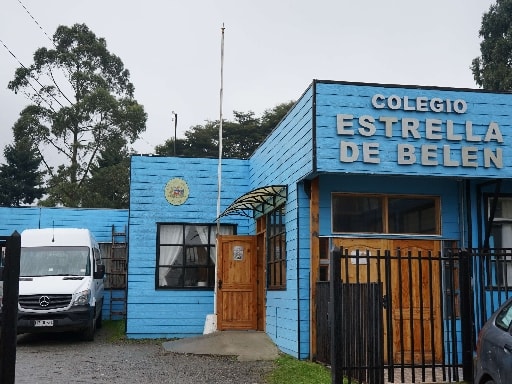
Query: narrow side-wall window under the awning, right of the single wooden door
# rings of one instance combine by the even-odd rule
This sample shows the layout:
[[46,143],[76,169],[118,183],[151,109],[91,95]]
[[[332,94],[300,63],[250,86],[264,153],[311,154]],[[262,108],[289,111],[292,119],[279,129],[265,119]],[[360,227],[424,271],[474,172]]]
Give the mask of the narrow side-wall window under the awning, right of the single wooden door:
[[284,205],[267,215],[267,288],[286,289]]

